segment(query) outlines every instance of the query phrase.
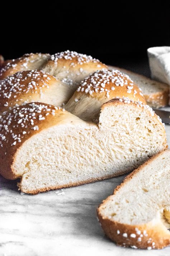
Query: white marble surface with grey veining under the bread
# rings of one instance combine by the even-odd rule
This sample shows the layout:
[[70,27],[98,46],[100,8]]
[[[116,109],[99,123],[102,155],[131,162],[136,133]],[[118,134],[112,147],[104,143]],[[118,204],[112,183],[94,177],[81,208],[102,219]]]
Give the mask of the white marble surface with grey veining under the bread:
[[[170,125],[166,125],[170,145]],[[17,181],[0,177],[0,256],[169,256],[163,250],[135,250],[107,239],[96,207],[124,176],[36,196],[21,195]]]

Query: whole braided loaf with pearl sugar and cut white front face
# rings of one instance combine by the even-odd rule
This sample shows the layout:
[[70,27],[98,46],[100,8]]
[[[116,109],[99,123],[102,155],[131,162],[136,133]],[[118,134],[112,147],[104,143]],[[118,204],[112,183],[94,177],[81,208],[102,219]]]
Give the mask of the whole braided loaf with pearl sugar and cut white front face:
[[[42,70],[27,70],[32,67]],[[66,51],[24,55],[1,69],[5,178],[21,178],[19,188],[36,194],[126,173],[166,148],[164,126],[140,89],[106,68]]]

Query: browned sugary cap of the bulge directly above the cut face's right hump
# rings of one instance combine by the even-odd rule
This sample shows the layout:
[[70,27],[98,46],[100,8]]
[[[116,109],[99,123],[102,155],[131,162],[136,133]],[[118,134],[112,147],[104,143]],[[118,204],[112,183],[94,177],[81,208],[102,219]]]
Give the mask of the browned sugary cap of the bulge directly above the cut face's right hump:
[[128,75],[120,71],[102,69],[94,72],[81,82],[75,92],[75,97],[79,94],[86,94],[92,98],[105,97],[106,100],[113,98],[128,98],[136,102],[146,103],[141,90],[133,83]]

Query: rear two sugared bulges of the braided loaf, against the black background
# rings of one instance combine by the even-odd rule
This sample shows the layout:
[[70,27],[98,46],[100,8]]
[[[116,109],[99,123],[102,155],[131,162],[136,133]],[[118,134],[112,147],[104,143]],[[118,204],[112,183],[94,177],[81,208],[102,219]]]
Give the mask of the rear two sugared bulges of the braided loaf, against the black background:
[[7,63],[0,71],[0,79],[14,75],[18,71],[37,69],[66,82],[75,91],[86,76],[102,68],[107,66],[98,59],[75,51],[67,50],[54,55],[31,53]]

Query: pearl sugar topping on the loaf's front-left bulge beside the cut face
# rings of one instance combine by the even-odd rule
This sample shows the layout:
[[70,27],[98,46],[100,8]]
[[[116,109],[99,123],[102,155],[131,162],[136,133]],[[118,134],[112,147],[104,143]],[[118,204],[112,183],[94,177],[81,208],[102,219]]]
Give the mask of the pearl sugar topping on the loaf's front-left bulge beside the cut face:
[[39,121],[45,120],[49,114],[54,116],[60,109],[65,111],[60,107],[29,103],[3,112],[0,116],[0,146],[3,148],[9,140],[11,146],[21,143],[25,134],[39,130]]

